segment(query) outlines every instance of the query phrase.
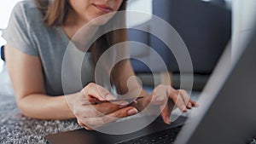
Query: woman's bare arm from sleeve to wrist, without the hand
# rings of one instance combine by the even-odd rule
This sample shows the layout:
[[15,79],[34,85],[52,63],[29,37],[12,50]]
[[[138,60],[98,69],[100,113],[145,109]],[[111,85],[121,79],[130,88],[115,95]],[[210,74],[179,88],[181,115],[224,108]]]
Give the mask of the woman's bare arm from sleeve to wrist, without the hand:
[[5,57],[17,105],[24,115],[40,119],[75,118],[65,96],[45,95],[42,64],[38,56],[26,55],[6,45]]

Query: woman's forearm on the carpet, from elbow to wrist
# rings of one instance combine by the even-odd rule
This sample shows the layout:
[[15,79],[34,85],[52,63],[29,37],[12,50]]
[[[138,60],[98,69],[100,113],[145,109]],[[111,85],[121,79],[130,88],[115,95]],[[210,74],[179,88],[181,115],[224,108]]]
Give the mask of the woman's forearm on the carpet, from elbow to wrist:
[[[68,95],[68,96],[75,96]],[[49,96],[44,94],[32,94],[17,100],[20,111],[30,118],[39,119],[71,119],[75,118],[67,105],[64,95]]]

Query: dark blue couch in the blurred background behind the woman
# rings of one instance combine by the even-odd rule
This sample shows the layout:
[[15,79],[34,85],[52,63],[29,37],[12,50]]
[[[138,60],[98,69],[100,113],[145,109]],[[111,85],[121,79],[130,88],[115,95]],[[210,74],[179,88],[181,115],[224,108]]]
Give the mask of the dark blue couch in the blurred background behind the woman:
[[[166,20],[186,44],[192,60],[194,74],[209,75],[218,62],[225,46],[230,41],[231,11],[224,3],[207,3],[201,0],[153,0],[153,14]],[[161,56],[169,72],[179,73],[177,61],[172,51],[159,38],[148,32],[136,30],[137,27],[147,31],[162,31],[158,23],[148,20],[134,26],[128,31],[129,40],[145,43]],[[172,37],[166,33],[166,37]],[[131,60],[135,72],[150,73],[163,71],[164,66],[154,60],[154,56],[145,48],[131,48]],[[143,65],[139,60],[148,61]]]

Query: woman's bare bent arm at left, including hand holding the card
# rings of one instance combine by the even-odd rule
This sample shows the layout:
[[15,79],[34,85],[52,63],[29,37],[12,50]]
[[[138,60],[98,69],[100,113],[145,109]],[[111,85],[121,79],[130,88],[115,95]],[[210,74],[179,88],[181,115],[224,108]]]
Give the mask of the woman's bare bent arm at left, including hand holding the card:
[[27,117],[77,118],[81,126],[91,130],[137,113],[135,107],[127,107],[126,101],[88,105],[93,101],[113,99],[108,89],[97,84],[88,84],[72,95],[45,95],[42,65],[37,56],[26,55],[10,45],[6,46],[5,56],[18,107]]

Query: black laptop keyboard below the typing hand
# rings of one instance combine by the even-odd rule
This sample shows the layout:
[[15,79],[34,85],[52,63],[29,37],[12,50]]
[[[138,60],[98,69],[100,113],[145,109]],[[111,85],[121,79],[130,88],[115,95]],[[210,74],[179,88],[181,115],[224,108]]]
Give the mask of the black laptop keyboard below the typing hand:
[[177,126],[172,129],[162,130],[150,135],[144,135],[129,141],[122,141],[118,144],[172,144],[181,128],[182,126]]

